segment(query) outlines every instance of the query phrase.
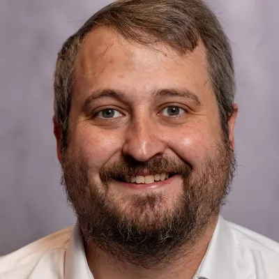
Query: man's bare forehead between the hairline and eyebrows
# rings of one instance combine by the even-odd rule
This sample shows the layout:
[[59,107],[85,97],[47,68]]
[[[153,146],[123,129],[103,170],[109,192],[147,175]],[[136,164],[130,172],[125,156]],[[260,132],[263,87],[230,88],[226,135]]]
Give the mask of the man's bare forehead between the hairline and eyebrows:
[[142,96],[181,87],[202,96],[211,91],[206,65],[202,43],[193,52],[179,54],[164,43],[140,45],[102,27],[91,31],[82,43],[75,61],[75,85],[82,94],[110,88]]

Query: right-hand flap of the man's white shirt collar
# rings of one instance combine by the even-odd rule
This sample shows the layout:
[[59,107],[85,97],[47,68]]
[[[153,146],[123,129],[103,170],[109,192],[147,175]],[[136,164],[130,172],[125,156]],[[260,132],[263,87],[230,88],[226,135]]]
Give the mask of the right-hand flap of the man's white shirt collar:
[[232,233],[223,219],[219,216],[209,248],[199,265],[195,279],[234,279],[235,248]]

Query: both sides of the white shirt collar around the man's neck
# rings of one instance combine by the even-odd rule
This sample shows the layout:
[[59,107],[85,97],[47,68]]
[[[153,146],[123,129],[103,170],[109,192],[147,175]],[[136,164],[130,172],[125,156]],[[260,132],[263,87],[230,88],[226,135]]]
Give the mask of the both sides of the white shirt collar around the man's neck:
[[[199,265],[195,279],[234,279],[234,239],[222,216],[219,216],[209,248]],[[65,259],[65,278],[93,279],[87,264],[78,223],[73,229]]]

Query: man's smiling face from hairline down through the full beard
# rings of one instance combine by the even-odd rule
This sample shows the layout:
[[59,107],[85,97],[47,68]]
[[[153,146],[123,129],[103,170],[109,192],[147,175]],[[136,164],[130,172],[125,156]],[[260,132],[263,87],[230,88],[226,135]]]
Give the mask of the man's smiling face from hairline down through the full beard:
[[234,168],[204,47],[181,55],[102,28],[75,67],[62,167],[84,238],[163,259],[218,214]]

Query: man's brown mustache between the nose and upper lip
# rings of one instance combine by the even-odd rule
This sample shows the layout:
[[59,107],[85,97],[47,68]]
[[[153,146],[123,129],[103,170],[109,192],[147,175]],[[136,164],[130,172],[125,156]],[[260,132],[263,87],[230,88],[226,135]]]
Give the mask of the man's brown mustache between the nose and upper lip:
[[106,183],[111,179],[123,179],[125,176],[135,176],[138,172],[146,171],[151,174],[179,173],[187,177],[190,175],[192,167],[176,158],[152,158],[146,162],[140,162],[132,157],[124,157],[121,162],[101,167],[99,174],[100,179]]

